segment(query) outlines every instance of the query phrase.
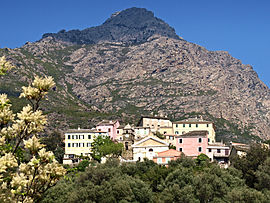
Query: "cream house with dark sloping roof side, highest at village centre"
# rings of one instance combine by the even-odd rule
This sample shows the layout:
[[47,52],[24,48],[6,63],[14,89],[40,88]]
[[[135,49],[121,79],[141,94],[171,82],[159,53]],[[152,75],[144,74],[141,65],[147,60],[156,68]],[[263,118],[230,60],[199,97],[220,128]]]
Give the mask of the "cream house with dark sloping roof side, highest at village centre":
[[172,122],[167,117],[142,116],[137,126],[150,127],[152,132],[156,132],[161,127],[172,127]]

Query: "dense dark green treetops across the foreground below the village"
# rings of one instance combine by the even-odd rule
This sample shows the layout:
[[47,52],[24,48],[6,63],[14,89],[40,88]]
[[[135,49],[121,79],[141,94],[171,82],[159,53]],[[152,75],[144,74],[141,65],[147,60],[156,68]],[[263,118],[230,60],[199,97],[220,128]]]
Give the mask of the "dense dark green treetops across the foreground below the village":
[[[60,181],[46,193],[43,202],[270,201],[270,190],[248,187],[241,171],[233,167],[223,169],[215,163],[204,164],[207,157],[203,155],[200,160],[203,160],[200,170],[198,161],[185,156],[171,161],[169,167],[151,160],[121,164],[115,159],[108,160]],[[262,170],[268,172],[267,168]]]

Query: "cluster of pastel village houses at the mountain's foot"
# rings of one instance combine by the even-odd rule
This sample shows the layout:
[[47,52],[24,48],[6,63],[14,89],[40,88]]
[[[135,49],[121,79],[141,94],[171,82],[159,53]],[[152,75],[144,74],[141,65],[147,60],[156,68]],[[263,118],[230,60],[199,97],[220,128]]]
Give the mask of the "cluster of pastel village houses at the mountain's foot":
[[91,157],[91,144],[98,136],[109,137],[124,146],[121,162],[144,159],[168,165],[184,154],[196,158],[206,154],[211,162],[229,166],[229,156],[245,154],[249,146],[242,143],[216,142],[215,124],[203,118],[171,122],[164,116],[142,116],[138,124],[125,126],[119,121],[101,121],[93,129],[70,129],[65,132],[63,164],[76,164],[80,157]]

